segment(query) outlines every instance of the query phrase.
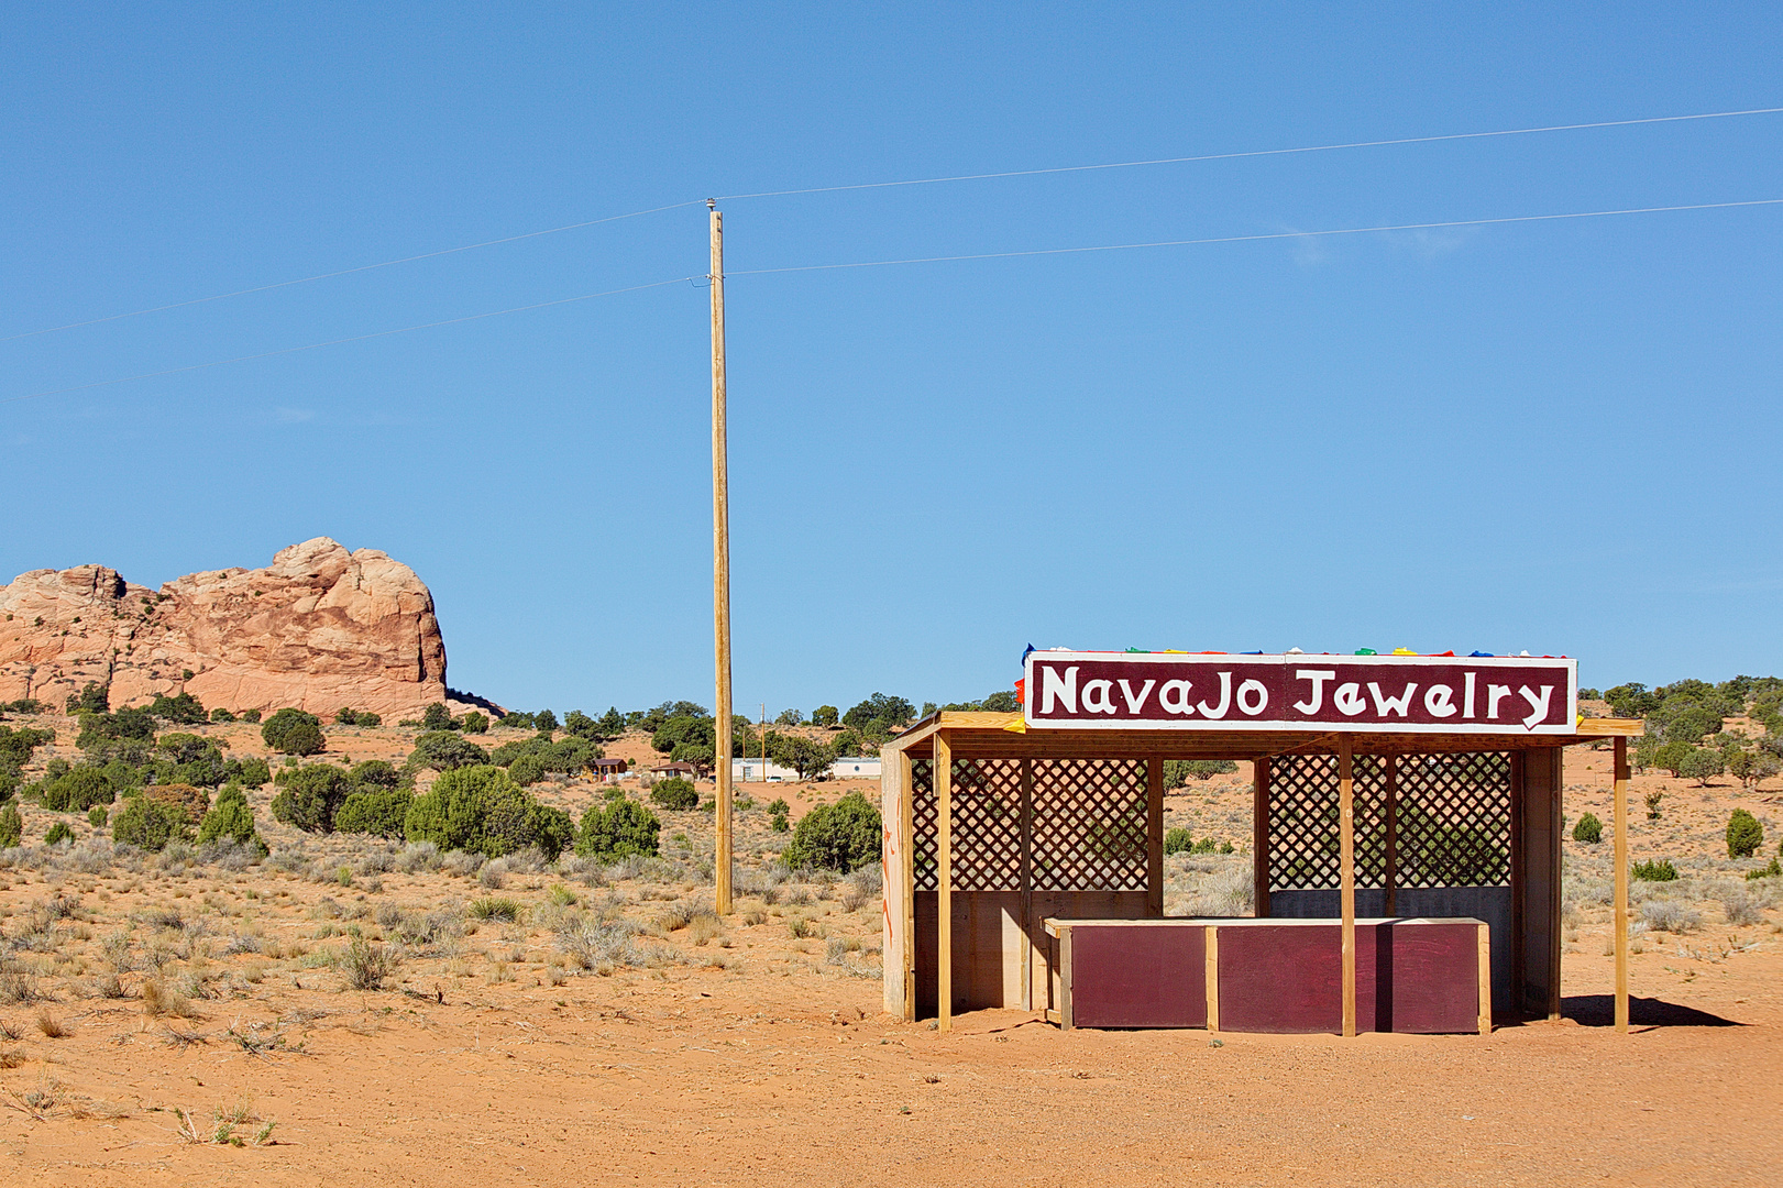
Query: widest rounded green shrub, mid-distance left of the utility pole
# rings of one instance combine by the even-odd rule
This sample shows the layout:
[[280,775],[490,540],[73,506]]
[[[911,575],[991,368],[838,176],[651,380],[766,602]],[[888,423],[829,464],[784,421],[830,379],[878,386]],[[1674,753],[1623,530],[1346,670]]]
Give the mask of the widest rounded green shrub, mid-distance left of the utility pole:
[[514,783],[499,767],[455,767],[408,806],[403,833],[410,842],[433,842],[499,858],[537,846],[556,858],[574,833],[569,813],[547,808]]

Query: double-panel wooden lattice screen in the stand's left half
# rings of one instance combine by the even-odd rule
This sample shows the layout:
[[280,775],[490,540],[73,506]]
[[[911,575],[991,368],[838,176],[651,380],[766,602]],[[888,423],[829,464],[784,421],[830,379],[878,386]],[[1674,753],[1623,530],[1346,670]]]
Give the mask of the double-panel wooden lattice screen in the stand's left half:
[[[1032,760],[1032,890],[1145,890],[1145,760]],[[1022,762],[954,760],[954,890],[1020,890]],[[931,760],[911,762],[911,856],[936,888]]]

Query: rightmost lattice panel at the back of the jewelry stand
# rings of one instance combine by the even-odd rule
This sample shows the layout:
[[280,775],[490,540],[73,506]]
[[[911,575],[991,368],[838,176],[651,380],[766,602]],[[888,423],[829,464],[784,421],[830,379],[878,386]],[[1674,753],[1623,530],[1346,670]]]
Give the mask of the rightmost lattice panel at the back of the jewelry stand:
[[1510,756],[1400,760],[1400,887],[1510,883]]

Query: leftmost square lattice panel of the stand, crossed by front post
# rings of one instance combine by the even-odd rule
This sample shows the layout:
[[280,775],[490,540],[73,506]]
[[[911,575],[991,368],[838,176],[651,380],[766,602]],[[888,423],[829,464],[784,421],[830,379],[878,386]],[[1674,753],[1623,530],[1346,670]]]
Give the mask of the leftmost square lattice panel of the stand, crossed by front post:
[[[909,765],[916,887],[940,883],[934,837],[938,803],[933,760]],[[1022,888],[1022,763],[954,760],[954,890]]]

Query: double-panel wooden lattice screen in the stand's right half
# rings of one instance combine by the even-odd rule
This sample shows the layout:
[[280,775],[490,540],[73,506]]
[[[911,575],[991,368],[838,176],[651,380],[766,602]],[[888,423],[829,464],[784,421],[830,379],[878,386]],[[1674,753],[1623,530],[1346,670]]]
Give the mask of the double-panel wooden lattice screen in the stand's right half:
[[[1355,883],[1387,883],[1387,760],[1357,755]],[[1510,881],[1510,756],[1396,760],[1394,887]],[[1337,756],[1278,758],[1269,769],[1269,888],[1337,887]]]

